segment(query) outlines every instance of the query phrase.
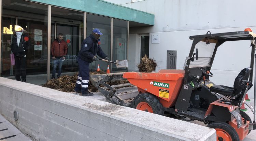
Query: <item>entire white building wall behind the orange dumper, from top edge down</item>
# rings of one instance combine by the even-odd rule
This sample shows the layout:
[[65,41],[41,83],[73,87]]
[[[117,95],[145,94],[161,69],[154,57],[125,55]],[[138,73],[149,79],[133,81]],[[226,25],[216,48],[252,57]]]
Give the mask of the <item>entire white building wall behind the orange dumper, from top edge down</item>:
[[[256,32],[256,19],[252,14],[256,7],[255,0],[144,0],[118,4],[155,14],[154,26],[130,27],[129,33],[150,33],[150,58],[156,60],[156,72],[166,69],[167,50],[177,51],[177,69],[182,69],[192,44],[189,36],[206,34],[207,31],[243,31],[246,27]],[[159,34],[160,43],[151,43],[152,34]],[[237,41],[219,47],[212,66],[214,77],[211,80],[215,84],[233,86],[239,72],[250,67],[249,46],[250,41]],[[202,53],[199,51],[199,54]],[[253,90],[248,93],[250,98],[253,97]]]

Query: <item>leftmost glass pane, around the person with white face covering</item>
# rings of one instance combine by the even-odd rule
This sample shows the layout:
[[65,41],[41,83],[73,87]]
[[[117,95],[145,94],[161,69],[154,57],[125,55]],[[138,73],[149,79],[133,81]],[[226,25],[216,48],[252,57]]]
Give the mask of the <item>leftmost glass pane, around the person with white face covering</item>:
[[[2,23],[1,29],[1,76],[14,78],[15,67],[10,64],[11,43],[16,37],[16,31],[24,29],[20,40],[25,42],[28,36],[30,45],[26,51],[26,75],[27,81],[32,82],[33,76],[37,76],[42,81],[35,84],[46,82],[47,65],[38,58],[47,56],[47,17],[48,6],[23,0],[4,0],[2,1]],[[23,38],[24,37],[24,38]],[[26,41],[27,42],[27,41]],[[17,47],[17,46],[16,46]],[[28,77],[30,76],[30,77]],[[16,78],[18,79],[18,78]]]

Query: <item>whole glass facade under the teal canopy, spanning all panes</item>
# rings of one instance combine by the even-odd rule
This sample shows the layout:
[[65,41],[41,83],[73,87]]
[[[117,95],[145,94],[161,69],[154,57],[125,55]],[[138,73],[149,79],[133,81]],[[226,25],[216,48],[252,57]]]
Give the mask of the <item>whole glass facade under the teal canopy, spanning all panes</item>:
[[[104,34],[100,37],[99,44],[108,58],[112,58],[111,61],[127,59],[128,21],[55,6],[51,6],[48,13],[48,7],[49,5],[25,0],[2,1],[1,77],[16,79],[15,65],[11,65],[10,54],[11,43],[13,37],[16,37],[15,30],[18,27],[24,29],[23,34],[27,35],[31,42],[26,51],[28,83],[41,85],[46,83],[47,78],[49,78],[47,73],[52,75],[52,63],[50,63],[50,72],[47,72],[47,58],[51,49],[48,44],[57,38],[58,33],[63,34],[63,40],[68,45],[66,58],[62,61],[62,75],[72,75],[78,71],[77,54],[81,48],[81,43],[94,28],[100,29],[101,33]],[[86,19],[84,19],[85,14]],[[113,20],[113,24],[111,24],[111,20]],[[48,28],[48,22],[51,22],[50,28]],[[49,40],[48,33],[51,33]],[[112,34],[113,39],[111,39]],[[113,41],[113,46],[111,46],[111,41]],[[52,56],[50,58],[50,62],[52,62]],[[98,64],[103,71],[106,71],[107,66],[110,65],[100,60],[94,61],[90,63],[90,70],[95,71]],[[112,70],[113,72],[126,71],[126,68],[116,68],[113,64]]]

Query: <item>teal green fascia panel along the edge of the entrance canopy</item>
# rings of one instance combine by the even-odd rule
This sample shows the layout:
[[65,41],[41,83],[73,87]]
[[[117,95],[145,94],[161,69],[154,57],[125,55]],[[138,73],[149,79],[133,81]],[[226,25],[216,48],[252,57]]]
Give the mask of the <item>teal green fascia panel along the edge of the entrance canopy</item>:
[[128,21],[154,25],[154,14],[138,11],[136,9],[109,3],[103,0],[30,0],[60,6],[92,14],[98,14]]

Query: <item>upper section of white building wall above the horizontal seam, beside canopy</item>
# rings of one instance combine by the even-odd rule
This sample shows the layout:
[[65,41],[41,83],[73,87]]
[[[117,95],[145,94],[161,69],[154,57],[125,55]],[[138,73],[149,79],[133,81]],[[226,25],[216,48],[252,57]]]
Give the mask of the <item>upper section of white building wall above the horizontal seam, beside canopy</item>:
[[255,0],[124,0],[121,5],[155,15],[155,25],[141,33],[247,27],[256,23]]

